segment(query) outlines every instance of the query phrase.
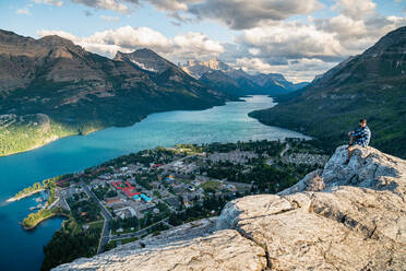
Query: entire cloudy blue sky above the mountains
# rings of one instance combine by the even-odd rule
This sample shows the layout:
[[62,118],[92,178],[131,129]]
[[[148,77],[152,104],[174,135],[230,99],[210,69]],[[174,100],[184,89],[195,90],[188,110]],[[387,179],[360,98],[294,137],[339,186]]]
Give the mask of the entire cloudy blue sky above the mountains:
[[406,0],[0,0],[0,28],[19,35],[109,58],[145,47],[175,63],[218,58],[296,83],[401,26]]

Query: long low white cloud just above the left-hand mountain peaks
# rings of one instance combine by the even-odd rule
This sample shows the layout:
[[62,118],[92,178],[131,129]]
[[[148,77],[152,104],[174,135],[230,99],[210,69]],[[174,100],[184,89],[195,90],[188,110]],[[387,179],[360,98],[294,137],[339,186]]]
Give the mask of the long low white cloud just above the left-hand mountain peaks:
[[114,57],[118,50],[130,52],[146,47],[177,62],[188,58],[216,57],[224,51],[218,42],[210,39],[202,33],[180,34],[170,39],[148,27],[123,26],[96,32],[87,37],[76,37],[67,32],[46,30],[38,31],[37,34],[38,36],[59,35],[89,51],[108,57]]

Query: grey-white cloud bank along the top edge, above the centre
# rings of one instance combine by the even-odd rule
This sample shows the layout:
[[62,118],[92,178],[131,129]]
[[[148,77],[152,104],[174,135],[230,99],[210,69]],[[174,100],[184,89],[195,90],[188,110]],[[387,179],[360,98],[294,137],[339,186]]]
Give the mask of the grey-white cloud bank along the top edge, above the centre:
[[[34,0],[60,1],[60,0]],[[71,0],[87,7],[131,13],[148,3],[180,22],[210,19],[232,30],[246,30],[266,21],[282,21],[297,14],[310,14],[324,7],[319,0]]]

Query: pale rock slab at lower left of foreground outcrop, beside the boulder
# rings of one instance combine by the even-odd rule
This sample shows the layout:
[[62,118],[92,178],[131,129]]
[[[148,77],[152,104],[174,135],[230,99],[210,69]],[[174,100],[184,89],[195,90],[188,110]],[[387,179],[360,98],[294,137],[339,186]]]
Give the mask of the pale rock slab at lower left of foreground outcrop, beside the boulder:
[[266,266],[264,250],[237,231],[213,233],[215,221],[192,222],[55,270],[259,271]]

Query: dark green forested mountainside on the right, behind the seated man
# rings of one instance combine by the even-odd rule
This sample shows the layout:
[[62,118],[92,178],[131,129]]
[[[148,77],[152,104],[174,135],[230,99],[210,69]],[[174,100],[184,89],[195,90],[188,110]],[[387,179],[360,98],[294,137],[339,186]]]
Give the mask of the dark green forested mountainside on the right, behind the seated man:
[[406,157],[405,104],[406,27],[401,27],[315,79],[301,95],[250,116],[317,137],[331,149],[367,118],[372,145]]

